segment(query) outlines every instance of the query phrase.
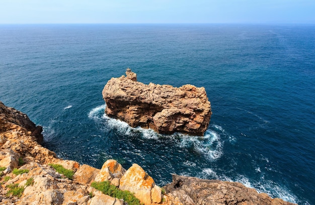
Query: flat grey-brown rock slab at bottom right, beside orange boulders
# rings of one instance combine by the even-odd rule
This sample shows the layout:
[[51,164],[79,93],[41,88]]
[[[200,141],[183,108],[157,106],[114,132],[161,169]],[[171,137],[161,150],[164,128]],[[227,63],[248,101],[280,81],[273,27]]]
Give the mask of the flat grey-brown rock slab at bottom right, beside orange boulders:
[[280,198],[271,198],[266,193],[258,193],[239,182],[198,179],[173,175],[173,182],[164,186],[167,195],[186,205],[293,205]]

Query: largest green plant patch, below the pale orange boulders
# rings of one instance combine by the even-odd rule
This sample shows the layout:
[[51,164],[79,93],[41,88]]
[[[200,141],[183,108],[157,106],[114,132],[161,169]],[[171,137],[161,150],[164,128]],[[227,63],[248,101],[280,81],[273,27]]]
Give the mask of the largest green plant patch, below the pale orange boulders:
[[123,191],[116,186],[110,184],[109,181],[93,182],[92,187],[102,191],[104,194],[110,195],[116,198],[122,198],[129,205],[140,205],[140,200],[137,199],[130,191]]

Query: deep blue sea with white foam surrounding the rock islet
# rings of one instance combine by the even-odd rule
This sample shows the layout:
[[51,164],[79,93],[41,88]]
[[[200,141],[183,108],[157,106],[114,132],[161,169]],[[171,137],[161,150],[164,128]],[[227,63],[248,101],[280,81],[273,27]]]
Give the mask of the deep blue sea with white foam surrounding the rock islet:
[[[144,83],[205,87],[205,136],[104,115],[102,89],[127,67]],[[177,173],[315,204],[315,25],[0,25],[0,100],[42,125],[64,159],[114,158],[159,185]]]

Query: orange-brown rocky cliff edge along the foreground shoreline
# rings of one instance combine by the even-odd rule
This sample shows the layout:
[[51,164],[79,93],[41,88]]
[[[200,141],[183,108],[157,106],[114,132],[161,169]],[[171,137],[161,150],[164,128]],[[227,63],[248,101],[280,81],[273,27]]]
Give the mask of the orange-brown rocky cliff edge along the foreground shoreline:
[[[146,205],[293,204],[238,182],[173,175],[173,182],[161,188],[137,164],[125,170],[116,160],[108,160],[97,169],[59,159],[40,145],[41,131],[25,114],[0,102],[1,204],[127,204],[91,186],[94,181],[110,181]],[[73,176],[66,177],[53,165],[62,165]]]

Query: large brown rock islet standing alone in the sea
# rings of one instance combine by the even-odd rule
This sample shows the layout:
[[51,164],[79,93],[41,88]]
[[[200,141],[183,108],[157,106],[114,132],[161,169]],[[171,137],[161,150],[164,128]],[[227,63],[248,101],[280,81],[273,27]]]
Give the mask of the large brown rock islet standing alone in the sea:
[[164,134],[206,131],[212,113],[204,87],[143,84],[129,68],[126,75],[110,79],[103,89],[108,116]]

